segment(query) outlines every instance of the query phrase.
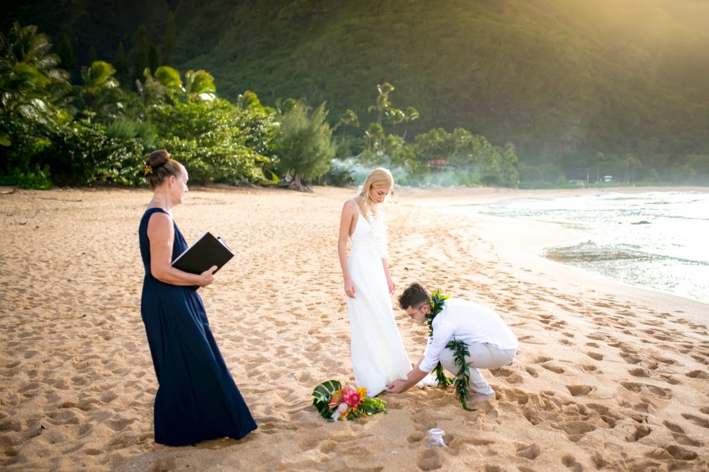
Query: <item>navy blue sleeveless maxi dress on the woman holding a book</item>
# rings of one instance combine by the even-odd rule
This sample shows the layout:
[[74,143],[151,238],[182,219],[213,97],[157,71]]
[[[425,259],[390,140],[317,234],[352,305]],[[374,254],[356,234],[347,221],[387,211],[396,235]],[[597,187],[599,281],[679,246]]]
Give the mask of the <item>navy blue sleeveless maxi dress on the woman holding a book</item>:
[[[241,439],[257,428],[212,336],[196,287],[160,282],[150,273],[150,241],[143,214],[138,229],[145,265],[140,313],[155,365],[155,442],[169,446],[203,439]],[[187,248],[174,224],[172,260]]]

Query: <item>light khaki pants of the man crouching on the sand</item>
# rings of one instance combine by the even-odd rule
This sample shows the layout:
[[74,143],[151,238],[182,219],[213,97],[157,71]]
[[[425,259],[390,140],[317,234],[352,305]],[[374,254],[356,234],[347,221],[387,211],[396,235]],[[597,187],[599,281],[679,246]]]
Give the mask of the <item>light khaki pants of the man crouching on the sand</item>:
[[[488,343],[473,343],[468,345],[469,356],[465,357],[465,362],[470,367],[469,388],[483,395],[495,393],[490,384],[480,374],[478,369],[494,369],[510,364],[517,354],[516,349],[498,349]],[[455,364],[453,351],[446,348],[441,351],[440,363],[444,369],[453,374],[458,374],[459,367]]]

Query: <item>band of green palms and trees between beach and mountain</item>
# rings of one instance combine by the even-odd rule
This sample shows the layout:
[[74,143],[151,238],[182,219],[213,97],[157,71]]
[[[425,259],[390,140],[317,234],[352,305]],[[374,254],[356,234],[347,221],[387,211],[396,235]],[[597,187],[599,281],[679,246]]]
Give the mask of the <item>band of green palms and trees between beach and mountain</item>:
[[[90,57],[80,68],[67,38],[53,53],[35,26],[16,23],[0,35],[0,184],[142,185],[145,155],[161,148],[198,183],[299,190],[313,182],[349,184],[347,169],[330,171],[334,159],[347,156],[394,168],[411,185],[431,181],[431,175],[447,175],[452,184],[518,181],[511,144],[495,146],[462,128],[432,129],[407,141],[418,110],[394,107],[394,86],[387,82],[378,86],[374,121],[359,137],[344,133],[359,127],[357,114],[347,110],[331,126],[324,102],[313,108],[289,98],[266,107],[250,91],[234,103],[224,100],[207,71],[181,74],[169,66],[173,29],[171,16],[162,60],[140,26],[128,56],[120,43],[113,64]],[[72,84],[67,69],[77,68]]]

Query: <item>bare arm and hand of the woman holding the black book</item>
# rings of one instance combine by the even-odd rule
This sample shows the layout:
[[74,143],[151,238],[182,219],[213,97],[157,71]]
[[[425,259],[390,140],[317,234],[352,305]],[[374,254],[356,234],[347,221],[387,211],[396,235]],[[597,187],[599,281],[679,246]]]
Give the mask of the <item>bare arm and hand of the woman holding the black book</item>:
[[198,285],[206,287],[214,282],[212,275],[216,265],[201,274],[190,274],[175,269],[172,262],[172,244],[174,243],[172,219],[164,213],[153,213],[147,221],[147,238],[150,241],[150,273],[160,282],[171,285]]

